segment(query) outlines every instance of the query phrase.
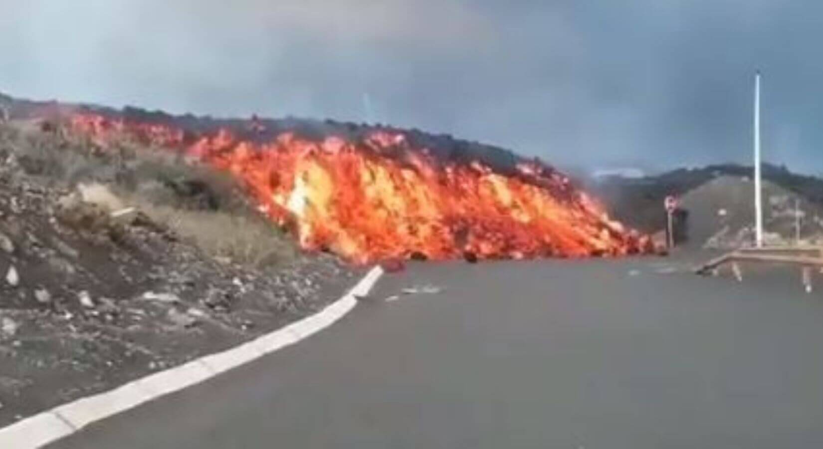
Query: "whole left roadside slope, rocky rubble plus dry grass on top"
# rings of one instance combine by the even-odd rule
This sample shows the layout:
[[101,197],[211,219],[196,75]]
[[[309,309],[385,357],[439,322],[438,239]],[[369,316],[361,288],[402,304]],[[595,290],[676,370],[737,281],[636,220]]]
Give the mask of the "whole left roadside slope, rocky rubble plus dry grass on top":
[[360,274],[207,167],[0,122],[0,427],[265,334]]

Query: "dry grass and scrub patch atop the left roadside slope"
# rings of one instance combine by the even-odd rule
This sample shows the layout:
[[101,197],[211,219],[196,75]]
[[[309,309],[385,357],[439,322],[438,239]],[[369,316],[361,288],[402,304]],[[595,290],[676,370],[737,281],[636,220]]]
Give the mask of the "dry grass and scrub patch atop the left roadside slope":
[[298,254],[291,237],[253,210],[230,175],[188,163],[177,152],[126,138],[104,150],[59,128],[19,124],[0,124],[0,151],[13,152],[26,175],[75,188],[101,208],[136,207],[212,257],[267,268]]

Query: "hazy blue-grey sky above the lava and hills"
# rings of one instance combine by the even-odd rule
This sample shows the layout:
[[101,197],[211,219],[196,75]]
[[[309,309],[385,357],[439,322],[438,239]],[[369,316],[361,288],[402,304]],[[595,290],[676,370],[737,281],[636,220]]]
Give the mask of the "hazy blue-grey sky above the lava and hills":
[[0,91],[374,119],[561,165],[823,171],[819,0],[0,0]]

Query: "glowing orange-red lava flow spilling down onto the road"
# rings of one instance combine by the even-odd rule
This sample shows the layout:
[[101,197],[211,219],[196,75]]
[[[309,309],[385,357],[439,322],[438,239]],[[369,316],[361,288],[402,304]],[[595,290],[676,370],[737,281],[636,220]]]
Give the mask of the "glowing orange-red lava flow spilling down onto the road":
[[356,139],[281,133],[256,143],[226,129],[184,138],[171,126],[91,114],[76,115],[72,125],[98,143],[126,133],[229,171],[302,248],[331,250],[355,264],[626,255],[651,248],[647,236],[612,222],[551,168],[524,162],[503,175],[477,161],[439,160],[403,133],[374,131]]

